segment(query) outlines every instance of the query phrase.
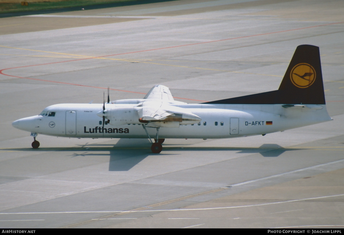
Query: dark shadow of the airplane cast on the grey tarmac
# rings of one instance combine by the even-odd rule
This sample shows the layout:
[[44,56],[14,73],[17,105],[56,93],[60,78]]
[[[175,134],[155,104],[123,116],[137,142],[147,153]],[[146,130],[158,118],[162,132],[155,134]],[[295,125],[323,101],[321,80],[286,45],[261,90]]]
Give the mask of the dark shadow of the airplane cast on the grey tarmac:
[[[277,144],[263,144],[260,147],[194,147],[194,146],[171,146],[163,144],[163,152],[160,154],[153,154],[150,150],[150,143],[147,139],[135,140],[120,139],[115,145],[114,144],[84,144],[77,145],[76,147],[66,148],[13,148],[7,150],[14,151],[42,151],[42,152],[74,152],[82,151],[83,153],[73,153],[71,157],[78,156],[109,156],[109,171],[128,171],[143,159],[148,156],[162,156],[162,155],[175,155],[175,153],[169,153],[172,151],[235,151],[237,153],[259,153],[263,157],[278,157],[286,151],[300,150],[298,148],[283,148]],[[105,151],[101,153],[102,151]],[[109,151],[109,152],[107,152]]]

